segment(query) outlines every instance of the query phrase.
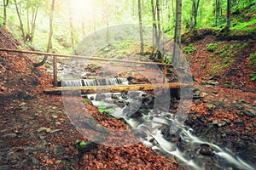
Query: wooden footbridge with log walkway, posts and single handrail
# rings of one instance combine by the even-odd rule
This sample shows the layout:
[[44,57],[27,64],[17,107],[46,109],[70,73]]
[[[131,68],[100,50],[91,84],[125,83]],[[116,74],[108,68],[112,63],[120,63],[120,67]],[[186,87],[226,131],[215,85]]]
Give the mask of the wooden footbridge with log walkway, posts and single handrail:
[[[67,94],[77,93],[78,91],[81,94],[95,94],[95,93],[103,93],[103,92],[123,92],[123,91],[131,91],[131,90],[142,90],[149,91],[154,90],[155,88],[191,88],[191,84],[183,84],[179,82],[165,83],[165,77],[167,74],[166,67],[172,66],[166,63],[160,62],[147,62],[147,61],[134,61],[134,60],[125,60],[125,59],[102,59],[96,57],[86,57],[82,55],[71,55],[71,54],[51,54],[37,51],[28,51],[28,50],[19,50],[19,49],[6,49],[0,48],[0,51],[5,51],[9,53],[23,53],[23,54],[38,54],[38,55],[47,55],[53,57],[53,84],[54,88],[48,88],[44,90],[46,94],[61,94],[64,90]],[[155,84],[131,84],[131,85],[105,85],[105,86],[83,86],[83,87],[57,87],[57,57],[66,57],[66,58],[74,58],[74,59],[90,59],[90,60],[101,60],[101,61],[114,61],[119,63],[131,63],[131,64],[144,64],[144,65],[162,65],[164,66],[163,74],[165,75],[163,79],[163,83],[155,83]]]

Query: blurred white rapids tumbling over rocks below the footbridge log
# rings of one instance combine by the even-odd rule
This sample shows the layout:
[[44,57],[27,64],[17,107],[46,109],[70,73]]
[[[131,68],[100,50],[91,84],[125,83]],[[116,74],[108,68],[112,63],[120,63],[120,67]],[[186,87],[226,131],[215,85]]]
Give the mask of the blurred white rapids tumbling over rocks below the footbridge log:
[[[132,101],[132,95],[129,95],[129,93],[128,99],[123,99],[125,102]],[[143,92],[137,92],[137,94],[139,95],[138,97],[141,97]],[[213,156],[210,156],[212,157],[211,159],[218,159],[221,161],[221,165],[218,165],[218,161],[216,162],[217,165],[215,165],[221,167],[221,169],[255,169],[255,165],[253,167],[253,165],[249,165],[246,161],[242,161],[241,158],[235,156],[230,150],[221,148],[216,144],[211,144],[203,139],[196,137],[191,133],[193,129],[189,127],[180,127],[180,132],[178,135],[186,145],[185,150],[180,150],[176,143],[172,143],[171,141],[166,140],[160,131],[160,127],[162,127],[162,125],[168,126],[170,128],[172,127],[172,123],[175,121],[173,114],[168,112],[158,112],[157,115],[154,115],[154,111],[150,111],[149,113],[143,114],[143,116],[140,117],[140,120],[143,119],[143,122],[138,121],[137,117],[129,117],[129,113],[124,113],[127,105],[124,108],[120,108],[118,105],[113,104],[113,99],[109,99],[109,97],[111,97],[110,94],[106,96],[108,96],[108,99],[106,98],[104,101],[110,101],[110,103],[104,102],[104,105],[111,107],[114,110],[113,114],[111,115],[118,119],[123,118],[125,122],[131,126],[131,132],[134,133],[140,142],[152,150],[161,150],[170,156],[176,156],[179,161],[183,162],[183,164],[187,166],[188,169],[201,170],[209,168],[206,166],[204,159],[209,159],[209,156],[203,156],[199,153],[195,153],[196,156],[194,158],[188,156],[189,150],[195,150],[196,152],[196,150],[201,147],[201,144],[207,145],[207,147],[212,150]],[[120,94],[116,96],[118,96],[119,99],[122,99]],[[95,94],[90,94],[88,97],[94,97],[95,99]],[[102,101],[92,100],[92,103],[93,105],[100,105],[102,104]],[[146,137],[144,135],[140,136],[137,132],[146,134]]]

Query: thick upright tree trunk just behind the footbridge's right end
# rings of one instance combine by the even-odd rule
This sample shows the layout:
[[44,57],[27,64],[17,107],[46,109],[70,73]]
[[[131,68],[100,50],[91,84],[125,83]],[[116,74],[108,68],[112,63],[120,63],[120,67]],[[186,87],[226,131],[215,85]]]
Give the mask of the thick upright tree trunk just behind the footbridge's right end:
[[182,17],[182,0],[176,0],[176,21],[175,34],[172,53],[172,65],[177,65],[180,60],[181,48],[181,17]]

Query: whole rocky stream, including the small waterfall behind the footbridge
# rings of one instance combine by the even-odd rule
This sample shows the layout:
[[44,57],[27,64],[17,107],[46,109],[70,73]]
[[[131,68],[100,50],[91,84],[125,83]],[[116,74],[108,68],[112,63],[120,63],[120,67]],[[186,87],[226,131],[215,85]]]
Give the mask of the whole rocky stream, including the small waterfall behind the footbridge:
[[[84,86],[100,84],[127,84],[125,79],[79,80],[62,82],[64,86]],[[114,94],[89,94],[93,105],[105,105],[113,109],[109,115],[125,120],[137,140],[166,157],[176,156],[187,169],[244,169],[255,166],[242,161],[227,148],[221,148],[193,134],[193,129],[180,125],[176,133],[171,133],[172,124],[177,123],[175,111],[161,111],[154,108],[154,101],[148,101],[148,94],[140,91]],[[154,98],[152,98],[154,99]],[[145,101],[146,104],[145,104]],[[122,104],[122,105],[118,105]],[[213,134],[212,134],[213,135]]]

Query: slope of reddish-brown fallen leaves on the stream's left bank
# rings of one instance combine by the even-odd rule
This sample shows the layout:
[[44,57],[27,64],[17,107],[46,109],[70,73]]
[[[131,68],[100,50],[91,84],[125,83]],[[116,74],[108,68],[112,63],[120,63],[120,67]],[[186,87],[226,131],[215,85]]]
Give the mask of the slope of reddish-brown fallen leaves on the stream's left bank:
[[[22,48],[3,27],[0,37],[0,48]],[[99,144],[79,153],[75,144],[90,139],[73,127],[61,96],[43,94],[52,80],[33,62],[29,54],[0,52],[0,169],[177,169],[176,161],[137,141],[117,148]],[[85,105],[102,125],[125,129],[124,122]]]

